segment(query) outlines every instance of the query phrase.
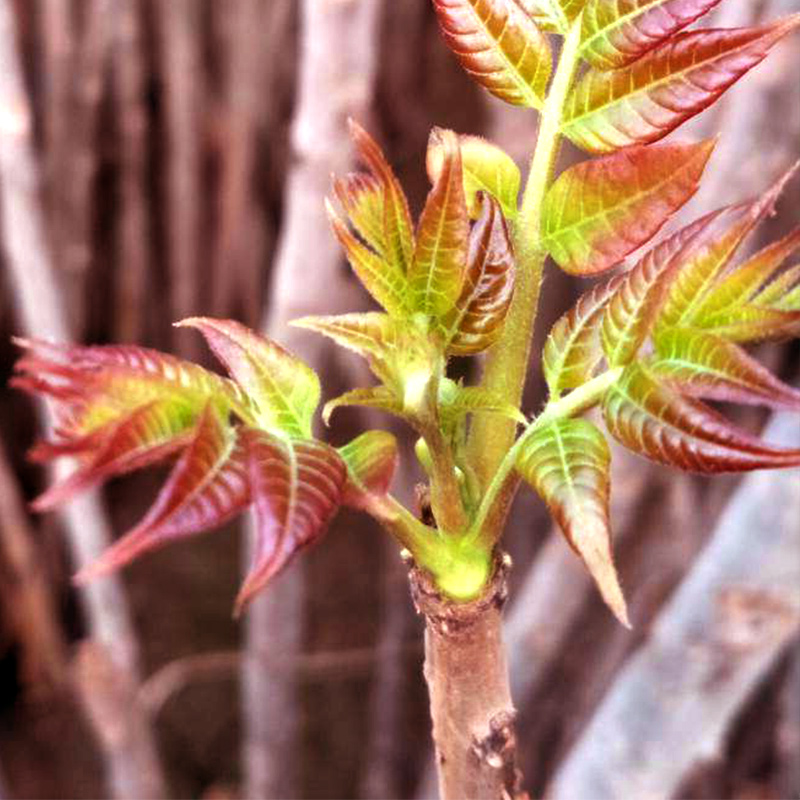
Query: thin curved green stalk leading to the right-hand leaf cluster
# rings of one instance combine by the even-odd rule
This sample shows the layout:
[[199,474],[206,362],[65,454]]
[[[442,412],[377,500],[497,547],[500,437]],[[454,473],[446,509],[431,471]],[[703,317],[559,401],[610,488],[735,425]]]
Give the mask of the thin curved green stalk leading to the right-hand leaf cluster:
[[485,547],[491,548],[497,541],[508,507],[511,505],[511,500],[519,484],[519,478],[514,472],[514,465],[531,436],[549,422],[573,417],[591,408],[603,397],[608,388],[616,383],[621,374],[622,367],[608,370],[583,386],[574,389],[566,397],[553,400],[544,407],[542,413],[525,428],[500,462],[486,488],[472,528],[465,537],[465,542],[480,541]]

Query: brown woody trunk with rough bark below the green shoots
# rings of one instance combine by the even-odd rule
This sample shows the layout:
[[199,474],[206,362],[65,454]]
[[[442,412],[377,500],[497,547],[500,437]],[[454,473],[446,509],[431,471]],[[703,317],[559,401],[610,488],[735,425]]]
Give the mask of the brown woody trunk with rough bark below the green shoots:
[[425,617],[425,680],[441,800],[526,797],[502,635],[508,563],[500,562],[484,596],[471,603],[452,603],[423,573],[411,574],[414,602]]

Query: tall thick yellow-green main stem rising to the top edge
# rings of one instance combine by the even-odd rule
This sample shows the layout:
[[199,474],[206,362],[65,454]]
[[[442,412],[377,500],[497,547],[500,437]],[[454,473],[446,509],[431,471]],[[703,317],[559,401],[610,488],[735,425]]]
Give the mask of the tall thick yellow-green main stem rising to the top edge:
[[[530,361],[542,270],[547,253],[539,228],[542,201],[553,180],[561,137],[561,116],[580,60],[580,17],[564,39],[550,92],[542,109],[539,135],[530,174],[515,226],[517,285],[503,336],[489,351],[483,386],[519,407]],[[477,414],[473,421],[468,456],[482,486],[486,486],[514,441],[515,425],[494,415]]]

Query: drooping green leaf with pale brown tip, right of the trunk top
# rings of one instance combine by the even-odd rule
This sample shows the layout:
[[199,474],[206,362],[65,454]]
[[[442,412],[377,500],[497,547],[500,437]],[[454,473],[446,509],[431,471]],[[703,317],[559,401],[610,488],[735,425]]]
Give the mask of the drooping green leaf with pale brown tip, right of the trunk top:
[[591,422],[562,419],[525,442],[517,469],[547,504],[609,608],[630,627],[611,549],[610,462],[606,440]]

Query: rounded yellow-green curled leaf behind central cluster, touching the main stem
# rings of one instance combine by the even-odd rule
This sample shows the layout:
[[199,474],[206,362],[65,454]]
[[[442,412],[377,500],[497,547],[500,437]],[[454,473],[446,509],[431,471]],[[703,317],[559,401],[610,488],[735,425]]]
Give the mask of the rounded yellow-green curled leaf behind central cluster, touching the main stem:
[[[479,192],[492,195],[503,209],[503,215],[514,219],[517,215],[517,198],[520,187],[519,167],[497,145],[480,136],[458,137],[461,148],[461,166],[464,176],[464,193],[470,217],[480,216],[483,203]],[[444,163],[441,140],[432,140],[428,146],[426,166],[431,183],[439,180]]]

